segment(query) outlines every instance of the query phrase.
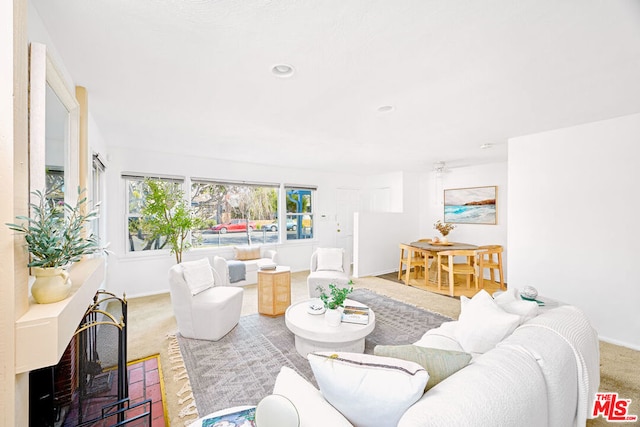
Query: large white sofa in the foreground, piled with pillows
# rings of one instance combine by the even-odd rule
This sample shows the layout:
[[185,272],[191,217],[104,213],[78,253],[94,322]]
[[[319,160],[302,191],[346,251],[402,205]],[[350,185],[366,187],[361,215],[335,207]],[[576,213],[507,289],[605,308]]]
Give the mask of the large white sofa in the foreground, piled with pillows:
[[[483,315],[488,319],[487,325],[472,316],[464,319],[463,314],[464,307],[459,321],[447,322],[428,331],[414,344],[465,351],[464,345],[474,347],[479,344],[478,341],[473,344],[477,337],[470,336],[468,323],[475,322],[479,332],[476,335],[488,332],[495,338],[495,330],[501,329],[486,312]],[[595,330],[579,309],[568,305],[543,310],[530,320],[521,321],[524,323],[512,333],[507,328],[507,336],[492,348],[482,353],[470,352],[473,358],[468,365],[426,393],[419,390],[417,401],[409,402],[408,409],[402,409],[399,421],[389,427],[584,426],[600,382]],[[483,332],[485,326],[493,329]],[[323,383],[326,387],[326,378],[321,382],[315,369],[314,373],[320,388]],[[340,375],[336,381],[344,383],[347,379]],[[335,391],[328,392],[325,394],[331,395]],[[359,403],[353,396],[358,399],[366,392],[361,389],[345,399],[347,410],[357,410]],[[376,419],[369,423],[350,422],[356,417],[353,414],[349,417],[344,410],[338,412],[335,407],[343,408],[340,402],[334,401],[333,406],[330,405],[321,391],[286,367],[278,375],[274,393],[286,396],[298,408],[301,427],[386,425]],[[368,404],[377,403],[369,408],[390,405],[389,394],[388,386],[382,385],[377,396],[366,397]]]

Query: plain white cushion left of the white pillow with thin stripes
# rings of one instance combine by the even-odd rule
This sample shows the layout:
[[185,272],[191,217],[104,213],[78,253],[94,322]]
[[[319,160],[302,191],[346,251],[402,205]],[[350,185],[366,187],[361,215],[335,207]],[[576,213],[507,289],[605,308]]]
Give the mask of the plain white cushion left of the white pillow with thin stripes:
[[273,393],[293,403],[300,415],[301,426],[351,427],[351,423],[322,397],[318,389],[291,368],[280,368]]

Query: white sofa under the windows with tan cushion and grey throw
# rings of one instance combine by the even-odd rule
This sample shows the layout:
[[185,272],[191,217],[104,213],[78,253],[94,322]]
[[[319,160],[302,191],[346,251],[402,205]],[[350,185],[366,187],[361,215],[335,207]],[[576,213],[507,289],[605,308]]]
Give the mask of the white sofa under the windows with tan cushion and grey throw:
[[[258,270],[265,264],[277,264],[278,252],[263,246],[238,246],[233,254],[214,255],[211,260],[213,268],[220,275],[222,283],[227,286],[245,286],[258,283]],[[229,276],[229,264],[227,261],[241,261],[245,265],[245,279],[231,282]]]

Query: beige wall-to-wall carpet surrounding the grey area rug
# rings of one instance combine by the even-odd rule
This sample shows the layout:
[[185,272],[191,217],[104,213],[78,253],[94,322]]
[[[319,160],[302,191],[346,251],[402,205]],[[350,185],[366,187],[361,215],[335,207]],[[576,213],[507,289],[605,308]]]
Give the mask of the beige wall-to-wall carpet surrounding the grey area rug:
[[[308,296],[307,272],[292,274],[291,299],[304,300]],[[414,287],[377,277],[355,279],[356,288],[366,288],[391,298],[413,304],[452,318],[460,315],[460,301]],[[242,314],[258,312],[255,285],[244,288]],[[167,410],[172,426],[182,427],[197,418],[186,371],[175,340],[177,331],[169,294],[132,298],[129,313],[129,360],[160,354],[164,369]],[[600,344],[600,390],[618,392],[620,398],[632,399],[629,413],[640,415],[640,352],[612,344]],[[590,427],[608,425],[602,418],[587,422]]]

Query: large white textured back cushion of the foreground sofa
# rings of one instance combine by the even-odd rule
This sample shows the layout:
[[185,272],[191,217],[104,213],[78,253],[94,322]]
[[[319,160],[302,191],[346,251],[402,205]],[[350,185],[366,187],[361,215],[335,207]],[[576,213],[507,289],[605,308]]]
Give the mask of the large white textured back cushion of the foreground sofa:
[[566,426],[548,416],[545,379],[536,360],[517,348],[498,346],[425,393],[397,426]]

